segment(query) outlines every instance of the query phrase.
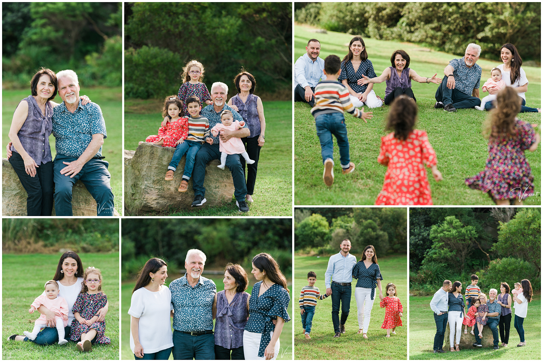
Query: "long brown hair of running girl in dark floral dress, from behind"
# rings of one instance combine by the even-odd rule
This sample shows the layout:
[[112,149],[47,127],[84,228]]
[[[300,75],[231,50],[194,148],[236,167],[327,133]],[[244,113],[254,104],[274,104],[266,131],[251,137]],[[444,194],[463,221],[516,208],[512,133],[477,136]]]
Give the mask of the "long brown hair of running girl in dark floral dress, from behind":
[[521,98],[513,87],[503,87],[496,96],[496,108],[490,111],[483,126],[483,135],[497,139],[516,135],[515,118],[520,111]]

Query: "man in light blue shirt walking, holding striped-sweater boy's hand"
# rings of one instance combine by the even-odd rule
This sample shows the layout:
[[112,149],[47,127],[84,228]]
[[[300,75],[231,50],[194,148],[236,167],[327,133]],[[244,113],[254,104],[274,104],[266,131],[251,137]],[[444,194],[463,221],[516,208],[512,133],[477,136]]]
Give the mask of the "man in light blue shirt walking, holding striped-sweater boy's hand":
[[[351,306],[352,268],[356,264],[356,257],[349,253],[351,240],[344,239],[340,247],[341,251],[330,257],[324,274],[326,294],[332,296],[332,323],[336,338],[345,333],[345,322]],[[339,320],[340,304],[341,320]]]

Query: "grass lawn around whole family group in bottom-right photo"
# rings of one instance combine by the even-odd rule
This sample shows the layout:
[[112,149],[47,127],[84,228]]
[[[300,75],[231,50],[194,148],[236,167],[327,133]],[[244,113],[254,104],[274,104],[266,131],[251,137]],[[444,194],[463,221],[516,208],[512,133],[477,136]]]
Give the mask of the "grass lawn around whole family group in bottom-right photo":
[[[541,359],[541,294],[534,295],[528,304],[528,315],[523,323],[526,347],[516,348],[520,339],[512,320],[508,347],[501,347],[500,341],[499,350],[483,345],[482,348],[464,349],[458,353],[433,353],[435,321],[430,309],[431,300],[432,296],[409,297],[409,359]],[[475,343],[475,337],[473,342]],[[520,349],[522,357],[519,357]]]

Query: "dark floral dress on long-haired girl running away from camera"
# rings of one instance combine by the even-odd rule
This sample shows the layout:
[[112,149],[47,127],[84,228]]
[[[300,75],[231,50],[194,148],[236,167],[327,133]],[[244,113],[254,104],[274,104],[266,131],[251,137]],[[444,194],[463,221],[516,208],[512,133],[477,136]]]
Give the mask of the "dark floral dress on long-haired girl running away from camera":
[[[516,119],[515,136],[488,142],[488,160],[484,171],[465,180],[470,188],[488,192],[494,200],[522,200],[534,193],[534,176],[524,150],[535,142],[531,124]],[[509,193],[512,192],[512,193]]]

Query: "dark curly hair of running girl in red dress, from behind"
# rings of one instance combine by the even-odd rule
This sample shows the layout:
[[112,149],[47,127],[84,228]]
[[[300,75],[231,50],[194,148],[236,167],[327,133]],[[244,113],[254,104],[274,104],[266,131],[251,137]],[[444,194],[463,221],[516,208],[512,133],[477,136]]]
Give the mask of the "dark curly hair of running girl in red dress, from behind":
[[393,100],[387,115],[386,129],[394,131],[394,138],[406,141],[416,123],[416,105],[407,96]]

